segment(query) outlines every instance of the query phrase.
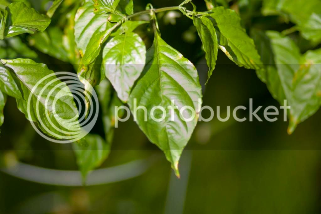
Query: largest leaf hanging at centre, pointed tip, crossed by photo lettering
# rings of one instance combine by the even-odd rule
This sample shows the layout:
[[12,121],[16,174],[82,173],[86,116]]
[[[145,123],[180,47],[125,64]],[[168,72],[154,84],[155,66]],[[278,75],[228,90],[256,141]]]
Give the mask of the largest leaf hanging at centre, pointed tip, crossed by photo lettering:
[[[157,32],[152,47],[147,51],[147,64],[143,73],[143,77],[134,86],[128,105],[141,130],[152,143],[164,151],[179,176],[178,160],[197,124],[198,101],[202,98],[198,73],[194,65],[166,44]],[[143,110],[138,110],[135,115],[135,100],[137,106],[146,107],[147,121]],[[178,109],[189,106],[195,110],[195,115],[189,110],[183,113],[185,118],[192,118],[192,121],[182,120],[178,109],[171,115],[168,107],[171,106],[172,100]],[[165,119],[161,122],[151,118],[150,113],[155,106],[164,107],[166,111]],[[155,110],[154,116],[157,119],[162,115],[161,110]],[[171,116],[175,117],[174,120]]]

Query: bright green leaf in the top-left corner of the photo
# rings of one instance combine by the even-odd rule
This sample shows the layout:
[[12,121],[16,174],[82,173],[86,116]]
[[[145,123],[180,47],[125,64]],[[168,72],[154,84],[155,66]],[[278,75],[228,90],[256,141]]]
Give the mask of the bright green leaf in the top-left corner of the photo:
[[27,7],[23,2],[11,3],[10,14],[6,23],[6,36],[13,37],[22,33],[44,31],[50,24],[50,18],[39,14],[35,9]]

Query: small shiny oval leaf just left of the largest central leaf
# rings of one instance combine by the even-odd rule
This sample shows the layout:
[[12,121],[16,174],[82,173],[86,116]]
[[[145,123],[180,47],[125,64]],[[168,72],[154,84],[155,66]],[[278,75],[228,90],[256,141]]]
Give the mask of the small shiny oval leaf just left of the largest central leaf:
[[135,33],[118,35],[104,47],[101,69],[123,102],[127,102],[134,82],[143,71],[145,60],[145,44]]

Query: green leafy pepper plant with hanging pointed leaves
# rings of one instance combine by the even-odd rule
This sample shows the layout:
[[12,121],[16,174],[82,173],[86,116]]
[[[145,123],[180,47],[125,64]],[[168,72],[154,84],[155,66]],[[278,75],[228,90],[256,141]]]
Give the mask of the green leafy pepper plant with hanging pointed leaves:
[[[179,176],[178,161],[198,121],[202,88],[195,66],[161,38],[157,14],[177,10],[193,22],[203,43],[207,81],[220,50],[238,66],[255,70],[272,96],[291,106],[291,134],[321,104],[321,49],[317,49],[321,2],[205,0],[204,4],[207,11],[203,12],[197,11],[192,0],[186,0],[164,8],[148,4],[146,10],[134,13],[133,0],[55,0],[47,13],[41,14],[27,0],[0,0],[0,125],[6,98],[11,96],[26,118],[48,136],[68,138],[68,130],[80,128],[77,119],[73,126],[65,123],[77,118],[79,106],[70,90],[60,91],[56,100],[55,84],[66,83],[39,63],[42,52],[72,64],[84,93],[92,94],[92,87],[98,93],[106,136],[88,134],[73,143],[83,175],[109,154],[118,117],[115,107],[128,105],[134,112],[137,104],[146,107],[148,118],[154,106],[167,109],[161,122],[146,121],[143,111],[134,114],[134,119],[147,138],[164,151]],[[51,23],[54,17],[58,21]],[[252,17],[277,17],[275,20],[285,24],[278,31],[259,24],[253,27]],[[153,31],[152,45],[146,47],[137,28]],[[34,90],[48,75],[42,84],[49,87]],[[54,81],[58,83],[50,83]],[[48,102],[44,102],[48,94]],[[89,99],[84,100],[85,115],[93,108]],[[178,108],[193,108],[196,115],[183,121],[178,110],[168,110],[172,100]],[[171,121],[171,117],[177,120]],[[66,133],[58,135],[56,127]]]

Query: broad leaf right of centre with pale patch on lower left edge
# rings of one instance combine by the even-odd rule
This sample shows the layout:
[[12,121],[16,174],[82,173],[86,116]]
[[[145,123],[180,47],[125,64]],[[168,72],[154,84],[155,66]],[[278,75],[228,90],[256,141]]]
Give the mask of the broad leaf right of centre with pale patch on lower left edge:
[[241,26],[241,19],[234,10],[216,7],[209,18],[216,30],[219,47],[230,60],[247,69],[262,67],[254,41]]

